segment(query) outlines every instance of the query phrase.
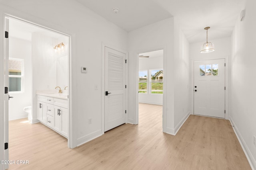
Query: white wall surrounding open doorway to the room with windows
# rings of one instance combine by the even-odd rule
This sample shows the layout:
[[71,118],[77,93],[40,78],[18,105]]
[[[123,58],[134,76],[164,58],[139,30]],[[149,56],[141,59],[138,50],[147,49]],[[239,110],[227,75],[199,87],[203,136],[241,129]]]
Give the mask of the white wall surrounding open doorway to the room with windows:
[[[128,57],[128,122],[138,123],[138,53],[164,49],[165,86],[163,94],[164,128],[173,127],[173,55],[174,55],[173,18],[129,32]],[[168,67],[167,67],[168,66]],[[164,131],[166,131],[164,129]]]

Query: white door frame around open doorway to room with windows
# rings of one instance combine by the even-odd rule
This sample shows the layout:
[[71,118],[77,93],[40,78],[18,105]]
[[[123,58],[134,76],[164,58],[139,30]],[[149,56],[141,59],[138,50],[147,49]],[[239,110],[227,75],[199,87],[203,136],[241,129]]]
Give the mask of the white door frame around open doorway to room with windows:
[[[140,51],[136,51],[135,52],[135,56],[137,57],[137,71],[136,71],[136,75],[134,75],[136,77],[136,113],[135,113],[135,120],[134,120],[134,124],[137,125],[139,123],[139,94],[138,94],[138,89],[139,89],[139,84],[138,84],[138,72],[140,70],[139,68],[139,54],[141,53],[147,53],[147,52],[151,52],[151,51],[157,51],[157,50],[163,50],[164,56],[163,56],[163,70],[164,70],[164,77],[167,77],[168,72],[167,70],[167,57],[166,57],[166,46],[159,46],[159,47],[152,47],[152,48],[148,48],[148,49],[142,49]],[[163,114],[163,120],[162,120],[162,127],[163,127],[163,132],[166,133],[166,126],[167,126],[167,110],[166,110],[166,100],[167,100],[167,81],[165,80],[165,84],[163,87],[163,110],[162,110],[162,114]]]

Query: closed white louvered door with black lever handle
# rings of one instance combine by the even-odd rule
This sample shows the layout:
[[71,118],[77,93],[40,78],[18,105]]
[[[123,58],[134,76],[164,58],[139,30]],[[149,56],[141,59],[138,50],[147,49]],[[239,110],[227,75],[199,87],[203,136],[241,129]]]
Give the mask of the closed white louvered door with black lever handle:
[[105,129],[125,123],[126,54],[105,47]]

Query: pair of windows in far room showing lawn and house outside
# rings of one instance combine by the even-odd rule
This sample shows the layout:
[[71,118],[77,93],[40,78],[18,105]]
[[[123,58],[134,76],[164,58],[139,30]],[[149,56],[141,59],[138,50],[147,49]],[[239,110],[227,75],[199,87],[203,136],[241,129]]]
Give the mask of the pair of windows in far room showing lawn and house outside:
[[[148,72],[151,76],[148,78]],[[147,94],[149,88],[151,94],[163,94],[163,70],[144,70],[139,72],[139,93]],[[149,83],[149,84],[148,84]],[[150,85],[148,87],[148,85]]]

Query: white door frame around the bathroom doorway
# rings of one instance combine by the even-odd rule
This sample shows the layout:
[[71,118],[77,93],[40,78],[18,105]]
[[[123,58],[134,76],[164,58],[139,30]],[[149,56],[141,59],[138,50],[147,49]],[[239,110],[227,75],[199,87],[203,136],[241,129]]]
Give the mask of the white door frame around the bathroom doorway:
[[[74,119],[74,115],[72,114],[73,113],[72,112],[72,91],[73,90],[72,90],[72,82],[71,82],[71,80],[72,80],[72,62],[74,60],[74,59],[72,59],[72,53],[71,52],[72,52],[72,44],[73,44],[72,41],[74,41],[72,39],[72,37],[74,35],[72,35],[70,33],[65,33],[64,31],[57,31],[57,29],[54,29],[53,27],[50,28],[48,26],[44,26],[43,24],[38,24],[34,21],[28,21],[24,18],[14,16],[13,14],[9,14],[9,13],[4,14],[4,20],[5,20],[5,18],[13,18],[15,20],[19,20],[19,21],[28,23],[30,25],[34,25],[36,27],[40,27],[42,29],[53,31],[55,33],[59,33],[59,34],[62,34],[64,36],[68,37],[68,43],[69,43],[68,44],[68,47],[69,47],[69,49],[68,49],[68,56],[69,56],[68,57],[68,66],[69,66],[69,68],[68,68],[68,72],[69,72],[69,75],[68,75],[68,82],[69,82],[68,83],[68,96],[69,96],[69,98],[68,98],[68,105],[69,105],[69,108],[68,108],[68,111],[69,111],[69,117],[68,117],[68,122],[69,122],[69,124],[68,124],[68,147],[69,148],[75,148],[77,140],[76,140],[76,133],[74,132],[74,129],[75,129],[74,125],[76,125],[76,122],[74,122],[75,119]],[[47,24],[45,24],[45,25],[47,25]]]

